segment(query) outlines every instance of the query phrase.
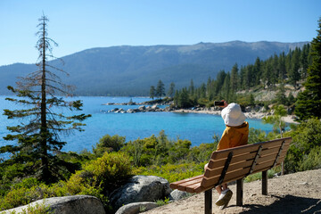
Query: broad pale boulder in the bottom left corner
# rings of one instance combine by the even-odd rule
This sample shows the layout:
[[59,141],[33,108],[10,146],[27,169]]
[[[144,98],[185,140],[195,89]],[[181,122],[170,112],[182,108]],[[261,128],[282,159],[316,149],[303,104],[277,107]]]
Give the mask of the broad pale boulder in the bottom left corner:
[[[45,201],[45,202],[44,202]],[[23,209],[27,210],[28,206],[45,206],[49,207],[53,214],[104,214],[103,204],[94,196],[90,195],[73,195],[66,197],[53,197],[38,200],[28,205],[5,210],[5,213],[22,213]],[[2,213],[2,212],[1,212]]]

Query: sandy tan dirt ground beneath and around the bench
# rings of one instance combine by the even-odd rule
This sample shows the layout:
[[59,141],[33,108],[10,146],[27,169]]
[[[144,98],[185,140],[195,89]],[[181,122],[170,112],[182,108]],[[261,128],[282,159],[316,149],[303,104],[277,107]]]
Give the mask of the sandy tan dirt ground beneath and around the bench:
[[[321,169],[298,172],[268,179],[268,195],[261,194],[261,182],[243,185],[243,206],[236,206],[236,185],[229,185],[234,192],[228,207],[219,210],[215,205],[218,193],[213,191],[213,213],[321,213]],[[204,213],[204,194],[148,210],[144,214],[193,214]]]

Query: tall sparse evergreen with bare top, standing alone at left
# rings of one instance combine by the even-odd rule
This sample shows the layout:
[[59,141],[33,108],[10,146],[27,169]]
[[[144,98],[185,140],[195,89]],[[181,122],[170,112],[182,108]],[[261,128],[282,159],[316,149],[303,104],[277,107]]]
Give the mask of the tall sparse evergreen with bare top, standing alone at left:
[[[4,137],[5,140],[15,141],[14,144],[2,146],[0,152],[12,153],[9,160],[1,163],[5,166],[16,166],[20,169],[20,177],[36,176],[46,183],[63,178],[63,173],[74,170],[69,162],[60,159],[62,147],[66,142],[60,139],[60,133],[69,134],[76,129],[82,131],[85,125],[80,121],[90,115],[66,116],[58,108],[81,110],[82,103],[78,101],[66,102],[62,95],[70,95],[71,87],[62,83],[62,79],[55,71],[63,70],[53,67],[48,59],[53,57],[52,45],[57,45],[47,36],[48,19],[43,15],[37,25],[37,50],[39,58],[38,70],[21,78],[18,86],[8,86],[14,94],[13,98],[6,98],[23,107],[18,110],[4,110],[8,119],[21,119],[21,124],[8,127],[14,133]],[[56,95],[60,95],[59,97]],[[26,122],[27,121],[27,122]]]

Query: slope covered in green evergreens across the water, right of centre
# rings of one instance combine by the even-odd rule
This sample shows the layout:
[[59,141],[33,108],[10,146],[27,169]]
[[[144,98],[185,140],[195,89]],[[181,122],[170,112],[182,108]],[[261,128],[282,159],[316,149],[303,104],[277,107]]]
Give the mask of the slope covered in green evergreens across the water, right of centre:
[[[193,85],[192,79],[189,86],[177,90],[174,101],[179,108],[211,106],[214,100],[222,99],[247,106],[263,103],[264,99],[258,93],[265,90],[268,94],[276,94],[269,96],[268,103],[292,105],[295,103],[294,93],[307,78],[310,64],[309,44],[287,54],[274,54],[264,61],[258,57],[253,64],[235,64],[232,70],[219,71],[216,78],[208,78],[199,87]],[[286,89],[291,92],[285,93]]]

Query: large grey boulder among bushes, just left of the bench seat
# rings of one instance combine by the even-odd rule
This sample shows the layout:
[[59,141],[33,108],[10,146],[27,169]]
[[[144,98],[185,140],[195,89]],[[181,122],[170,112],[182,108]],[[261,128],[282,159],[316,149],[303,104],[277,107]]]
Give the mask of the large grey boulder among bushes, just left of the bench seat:
[[169,181],[155,176],[134,176],[128,184],[111,193],[110,200],[114,210],[132,202],[154,202],[164,199],[171,193]]

